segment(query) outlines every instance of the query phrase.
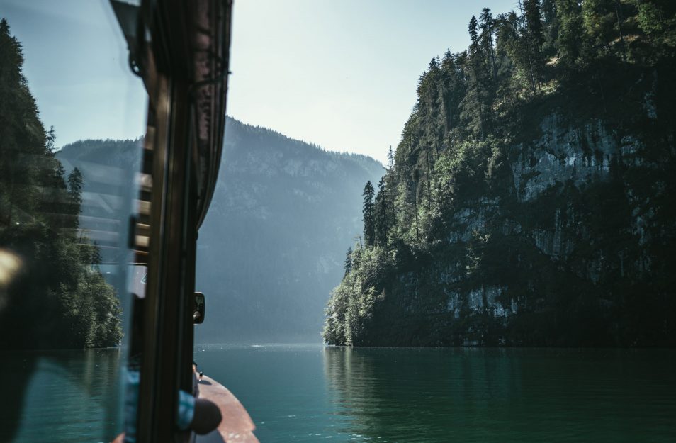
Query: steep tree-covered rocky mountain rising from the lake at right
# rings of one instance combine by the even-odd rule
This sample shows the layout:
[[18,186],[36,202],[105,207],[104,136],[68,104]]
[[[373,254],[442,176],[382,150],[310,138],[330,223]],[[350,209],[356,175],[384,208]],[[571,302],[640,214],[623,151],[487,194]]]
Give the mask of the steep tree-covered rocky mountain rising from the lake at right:
[[676,3],[519,6],[419,78],[327,343],[676,344]]

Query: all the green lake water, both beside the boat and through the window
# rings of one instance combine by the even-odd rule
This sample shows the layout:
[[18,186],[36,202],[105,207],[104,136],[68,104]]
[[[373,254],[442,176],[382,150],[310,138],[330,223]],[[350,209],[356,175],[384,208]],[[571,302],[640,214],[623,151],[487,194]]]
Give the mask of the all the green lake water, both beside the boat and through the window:
[[[266,442],[676,442],[676,350],[198,345]],[[120,428],[114,350],[0,354],[14,442],[99,442]],[[9,365],[6,363],[10,363]],[[9,378],[26,386],[6,396]],[[46,393],[46,394],[45,394]],[[8,401],[9,398],[9,401]],[[17,418],[18,417],[18,418]]]

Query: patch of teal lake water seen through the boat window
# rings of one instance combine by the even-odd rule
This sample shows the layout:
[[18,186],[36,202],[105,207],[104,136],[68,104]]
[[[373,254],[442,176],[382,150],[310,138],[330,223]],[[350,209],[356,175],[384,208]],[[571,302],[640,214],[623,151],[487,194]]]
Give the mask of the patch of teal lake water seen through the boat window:
[[118,349],[0,352],[0,442],[109,442],[122,361]]

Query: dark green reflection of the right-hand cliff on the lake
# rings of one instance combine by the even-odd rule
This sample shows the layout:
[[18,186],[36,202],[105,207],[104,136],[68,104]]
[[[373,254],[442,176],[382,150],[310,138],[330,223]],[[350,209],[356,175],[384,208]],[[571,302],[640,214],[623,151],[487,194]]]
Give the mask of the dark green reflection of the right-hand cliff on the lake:
[[329,347],[324,364],[342,432],[378,442],[676,441],[666,350]]

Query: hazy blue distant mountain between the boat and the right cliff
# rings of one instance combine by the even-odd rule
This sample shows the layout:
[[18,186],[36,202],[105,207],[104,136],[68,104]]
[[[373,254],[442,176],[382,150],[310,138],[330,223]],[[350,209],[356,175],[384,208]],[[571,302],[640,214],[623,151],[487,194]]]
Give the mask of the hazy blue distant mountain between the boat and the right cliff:
[[382,173],[370,157],[228,118],[198,238],[197,289],[207,313],[196,340],[321,340],[326,297],[361,234],[361,187]]

